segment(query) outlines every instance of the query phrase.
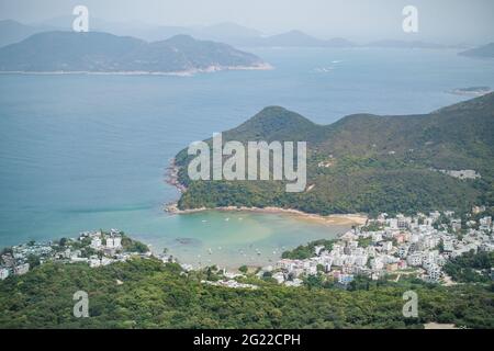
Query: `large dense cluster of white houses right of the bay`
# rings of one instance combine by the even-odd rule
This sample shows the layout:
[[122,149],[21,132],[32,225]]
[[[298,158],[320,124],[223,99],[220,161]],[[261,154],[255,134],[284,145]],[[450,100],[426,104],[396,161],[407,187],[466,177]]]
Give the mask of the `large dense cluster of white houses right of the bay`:
[[318,273],[343,285],[356,275],[378,280],[389,274],[397,279],[401,274],[415,274],[426,281],[441,282],[446,278],[442,267],[448,259],[471,250],[493,251],[492,234],[490,216],[462,223],[453,212],[396,217],[381,214],[367,226],[344,234],[330,249],[316,246],[312,258],[281,259],[258,274],[270,272],[278,283],[290,286],[299,286],[303,278]]

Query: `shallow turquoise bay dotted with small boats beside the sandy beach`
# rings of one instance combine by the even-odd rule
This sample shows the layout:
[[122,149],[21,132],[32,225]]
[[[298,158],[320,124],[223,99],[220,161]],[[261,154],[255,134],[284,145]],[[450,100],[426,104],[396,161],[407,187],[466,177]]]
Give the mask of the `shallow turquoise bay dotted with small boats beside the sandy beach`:
[[[186,262],[236,268],[269,264],[287,248],[334,238],[348,228],[348,225],[326,225],[287,214],[209,211],[158,216],[137,237],[151,244],[158,252],[168,248]],[[164,230],[162,235],[156,235],[159,230]]]

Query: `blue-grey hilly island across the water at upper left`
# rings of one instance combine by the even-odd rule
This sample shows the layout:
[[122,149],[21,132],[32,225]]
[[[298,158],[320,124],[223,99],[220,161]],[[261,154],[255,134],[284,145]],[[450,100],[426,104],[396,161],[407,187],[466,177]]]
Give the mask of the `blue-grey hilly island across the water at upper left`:
[[0,71],[189,72],[266,67],[256,55],[188,35],[147,43],[99,32],[44,32],[0,48]]

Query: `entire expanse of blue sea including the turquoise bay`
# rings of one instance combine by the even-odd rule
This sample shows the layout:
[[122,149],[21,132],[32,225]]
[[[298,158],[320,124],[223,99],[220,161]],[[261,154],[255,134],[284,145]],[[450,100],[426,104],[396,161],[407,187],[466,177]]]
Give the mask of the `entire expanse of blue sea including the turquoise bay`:
[[[358,112],[429,112],[467,99],[451,89],[494,87],[492,60],[452,50],[256,54],[276,69],[194,77],[0,75],[0,247],[116,227],[157,250],[225,263],[242,261],[238,250],[249,245],[272,253],[332,237],[345,228],[251,213],[242,223],[225,220],[224,213],[169,216],[162,204],[178,192],[164,182],[168,161],[266,105],[327,124]],[[177,238],[195,240],[177,245]],[[209,248],[213,254],[205,259]]]

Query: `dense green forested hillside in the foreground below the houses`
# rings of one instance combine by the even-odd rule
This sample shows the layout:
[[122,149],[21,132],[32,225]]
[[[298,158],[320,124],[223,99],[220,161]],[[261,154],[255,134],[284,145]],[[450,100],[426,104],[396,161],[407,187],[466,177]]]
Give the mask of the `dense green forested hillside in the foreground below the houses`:
[[[155,259],[96,269],[45,263],[0,281],[0,327],[422,328],[429,321],[494,327],[489,285],[444,287],[402,280],[345,291],[255,280],[259,288],[246,290],[201,284],[207,275],[207,270],[186,274],[178,264]],[[419,296],[418,318],[403,317],[402,296],[408,290]],[[88,293],[89,318],[72,315],[77,291]]]

